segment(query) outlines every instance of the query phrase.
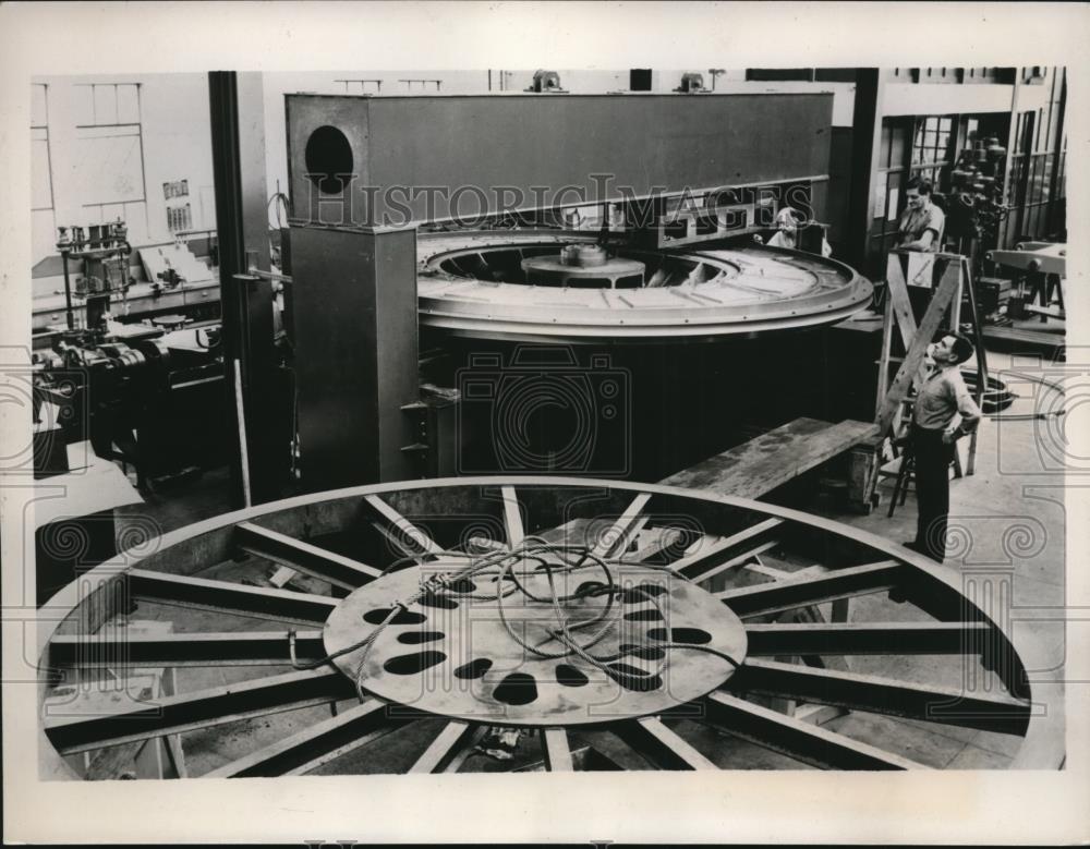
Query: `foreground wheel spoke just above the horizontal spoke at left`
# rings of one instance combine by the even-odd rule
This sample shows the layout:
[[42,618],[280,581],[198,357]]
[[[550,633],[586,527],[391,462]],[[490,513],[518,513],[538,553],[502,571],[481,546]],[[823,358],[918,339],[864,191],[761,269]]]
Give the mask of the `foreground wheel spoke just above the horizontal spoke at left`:
[[244,586],[143,569],[130,569],[122,575],[122,580],[125,579],[135,598],[276,621],[324,622],[337,606],[336,598],[324,595]]

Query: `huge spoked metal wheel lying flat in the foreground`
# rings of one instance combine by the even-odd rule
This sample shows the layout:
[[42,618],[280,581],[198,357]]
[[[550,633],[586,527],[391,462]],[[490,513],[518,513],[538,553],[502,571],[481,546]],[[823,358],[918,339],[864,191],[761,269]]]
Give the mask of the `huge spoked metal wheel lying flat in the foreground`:
[[[962,585],[836,522],[670,487],[300,497],[142,541],[52,599],[44,773],[111,775],[148,740],[190,776],[736,768],[739,740],[766,767],[922,766],[814,706],[998,732],[1015,766],[1058,766],[1051,688]],[[883,656],[905,676],[872,674]],[[130,683],[166,672],[171,693]]]

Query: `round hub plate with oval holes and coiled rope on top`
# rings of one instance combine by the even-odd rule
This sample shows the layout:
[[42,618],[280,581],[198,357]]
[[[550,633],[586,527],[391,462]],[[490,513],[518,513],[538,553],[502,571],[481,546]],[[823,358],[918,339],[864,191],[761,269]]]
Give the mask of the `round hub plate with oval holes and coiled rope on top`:
[[[327,620],[326,651],[364,640],[396,602],[420,593],[422,582],[450,575],[468,562],[428,562],[356,590]],[[707,592],[662,569],[614,562],[610,570],[622,592],[602,622],[571,631],[582,645],[604,622],[610,623],[585,650],[606,658],[605,669],[573,653],[540,657],[511,635],[513,631],[522,642],[554,655],[568,651],[550,636],[558,614],[536,561],[516,565],[517,581],[500,581],[499,570],[491,568],[409,604],[368,648],[335,663],[352,679],[359,672],[368,692],[421,711],[474,721],[560,726],[661,713],[730,677],[734,665],[713,652],[737,663],[744,659],[741,622]],[[580,595],[586,584],[605,580],[594,565],[554,575],[558,596]],[[501,607],[499,583],[507,586]],[[562,602],[559,615],[574,624],[602,614],[606,604],[605,595],[584,595]]]

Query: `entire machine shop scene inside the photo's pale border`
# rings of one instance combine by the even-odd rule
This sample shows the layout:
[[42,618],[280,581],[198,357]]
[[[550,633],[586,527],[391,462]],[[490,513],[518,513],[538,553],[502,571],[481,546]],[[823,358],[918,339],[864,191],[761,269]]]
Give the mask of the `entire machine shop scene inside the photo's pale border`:
[[1067,88],[36,77],[41,776],[1061,769]]

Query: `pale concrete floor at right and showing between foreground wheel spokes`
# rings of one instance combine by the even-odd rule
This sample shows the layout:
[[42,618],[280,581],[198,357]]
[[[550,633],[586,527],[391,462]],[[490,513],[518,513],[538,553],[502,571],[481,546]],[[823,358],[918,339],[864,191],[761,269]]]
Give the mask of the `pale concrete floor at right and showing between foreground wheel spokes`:
[[[1014,371],[1012,365],[1016,366]],[[1006,413],[1040,412],[1046,409],[1042,404],[1051,403],[1040,386],[1029,379],[1040,376],[1040,369],[1034,372],[1028,368],[1025,359],[992,354],[990,367],[1019,395]],[[1027,379],[1016,377],[1015,371]],[[1074,426],[1074,423],[1068,426]],[[981,582],[1009,585],[1010,608],[996,610],[994,616],[1016,621],[1019,635],[1029,632],[1036,638],[1039,646],[1036,656],[1026,658],[1032,680],[1033,670],[1049,669],[1062,665],[1064,660],[1062,623],[1021,621],[1026,617],[1019,615],[1020,609],[1062,606],[1065,602],[1064,489],[1057,463],[1057,458],[1058,462],[1063,461],[1063,446],[1056,432],[1040,422],[997,423],[984,420],[979,433],[974,474],[954,481],[950,486],[950,529],[955,545],[948,550],[946,565],[965,575],[967,587],[969,583],[979,586]],[[965,449],[962,444],[962,457]],[[153,496],[141,510],[153,516],[165,530],[183,526],[223,512],[229,507],[226,484],[226,471],[209,473],[183,490],[169,496]],[[913,497],[910,495],[906,505],[899,507],[893,518],[887,518],[892,486],[892,480],[882,484],[882,504],[869,516],[845,513],[821,499],[811,510],[894,542],[909,539],[915,535]],[[226,567],[228,572],[238,568]],[[214,570],[206,577],[231,575],[220,575],[219,570]],[[825,613],[827,615],[828,611]],[[177,609],[142,604],[131,618],[173,620],[178,631],[282,630],[274,622],[246,621],[216,614],[187,613],[182,619],[177,616]],[[928,617],[911,605],[894,604],[885,595],[871,595],[852,601],[850,619],[892,621],[925,620]],[[848,662],[853,671],[948,687],[961,686],[968,675],[960,658],[876,656],[851,657]],[[197,689],[280,671],[289,669],[183,669],[179,670],[179,688]],[[976,679],[976,682],[978,687],[990,686],[986,676]],[[314,707],[185,735],[186,763],[191,775],[201,775],[328,716],[328,708]],[[350,753],[317,772],[401,771],[423,751],[441,724],[432,725],[434,728],[422,727],[413,732],[389,735],[379,745],[368,749],[366,754]],[[689,720],[670,725],[725,768],[804,768],[787,757]],[[1020,738],[1006,735],[858,713],[832,719],[825,727],[938,768],[1003,768],[1010,763],[1021,742]],[[597,747],[622,766],[640,767],[640,762],[633,761],[631,753],[608,740],[583,735],[573,747],[578,747],[580,740]],[[471,757],[463,769],[507,769],[540,761],[541,756],[536,741],[528,737],[520,744],[513,761],[497,762],[477,755]]]

